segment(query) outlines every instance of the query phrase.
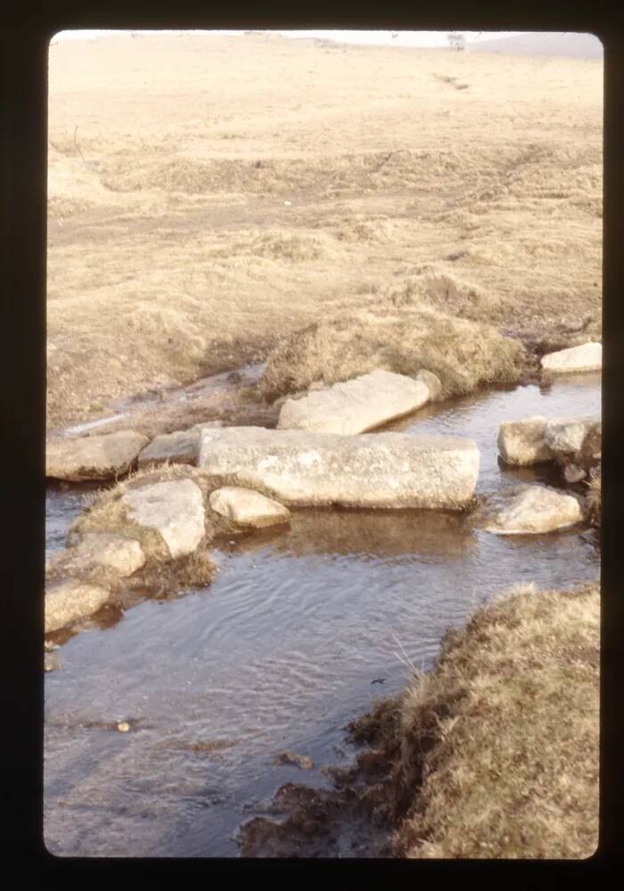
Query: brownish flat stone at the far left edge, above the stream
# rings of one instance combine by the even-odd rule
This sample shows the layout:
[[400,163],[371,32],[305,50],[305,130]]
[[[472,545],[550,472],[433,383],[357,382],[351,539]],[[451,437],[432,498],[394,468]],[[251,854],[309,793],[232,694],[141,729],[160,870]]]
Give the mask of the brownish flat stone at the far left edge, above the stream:
[[114,478],[130,470],[148,442],[148,437],[134,430],[51,439],[45,449],[45,475],[72,482]]

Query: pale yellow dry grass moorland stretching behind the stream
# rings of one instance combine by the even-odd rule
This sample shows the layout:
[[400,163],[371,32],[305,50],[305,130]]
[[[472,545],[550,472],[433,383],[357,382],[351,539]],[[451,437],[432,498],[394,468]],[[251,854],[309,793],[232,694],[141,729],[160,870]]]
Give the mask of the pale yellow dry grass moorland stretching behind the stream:
[[49,425],[416,292],[527,343],[599,339],[602,135],[602,61],[55,42]]

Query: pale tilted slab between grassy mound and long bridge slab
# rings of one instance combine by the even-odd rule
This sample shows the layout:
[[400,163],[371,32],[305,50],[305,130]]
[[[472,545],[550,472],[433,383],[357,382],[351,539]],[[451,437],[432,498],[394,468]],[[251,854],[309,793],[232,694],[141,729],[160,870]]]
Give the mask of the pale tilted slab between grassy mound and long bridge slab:
[[313,390],[281,407],[278,429],[363,433],[416,411],[430,399],[423,380],[377,370]]

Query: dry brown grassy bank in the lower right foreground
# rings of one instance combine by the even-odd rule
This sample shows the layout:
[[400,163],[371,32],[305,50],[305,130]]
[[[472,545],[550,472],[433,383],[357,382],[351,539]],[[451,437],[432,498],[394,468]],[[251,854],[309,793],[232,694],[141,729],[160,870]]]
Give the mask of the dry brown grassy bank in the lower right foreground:
[[411,858],[584,858],[598,838],[599,588],[531,587],[355,726]]

